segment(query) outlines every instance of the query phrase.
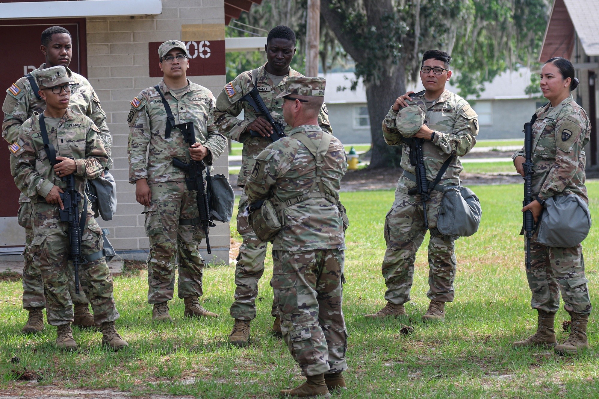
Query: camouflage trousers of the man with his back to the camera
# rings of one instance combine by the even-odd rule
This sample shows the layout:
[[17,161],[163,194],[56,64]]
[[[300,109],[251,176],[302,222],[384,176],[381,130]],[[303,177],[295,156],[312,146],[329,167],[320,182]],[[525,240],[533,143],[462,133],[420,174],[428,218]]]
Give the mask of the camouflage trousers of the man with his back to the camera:
[[344,252],[273,250],[274,295],[283,339],[304,376],[347,370],[341,302]]

